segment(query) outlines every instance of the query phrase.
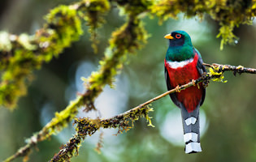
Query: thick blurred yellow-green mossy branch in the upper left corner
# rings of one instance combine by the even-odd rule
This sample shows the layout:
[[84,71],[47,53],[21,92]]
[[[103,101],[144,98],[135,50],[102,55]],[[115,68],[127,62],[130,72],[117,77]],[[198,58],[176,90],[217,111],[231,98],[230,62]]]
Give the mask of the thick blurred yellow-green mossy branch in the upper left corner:
[[105,0],[62,5],[46,15],[46,24],[33,36],[0,32],[0,105],[14,109],[20,96],[26,94],[26,84],[31,80],[33,70],[58,57],[64,48],[79,39],[83,33],[81,19],[87,19],[90,27],[97,28],[102,21],[94,19],[108,9],[109,4]]

